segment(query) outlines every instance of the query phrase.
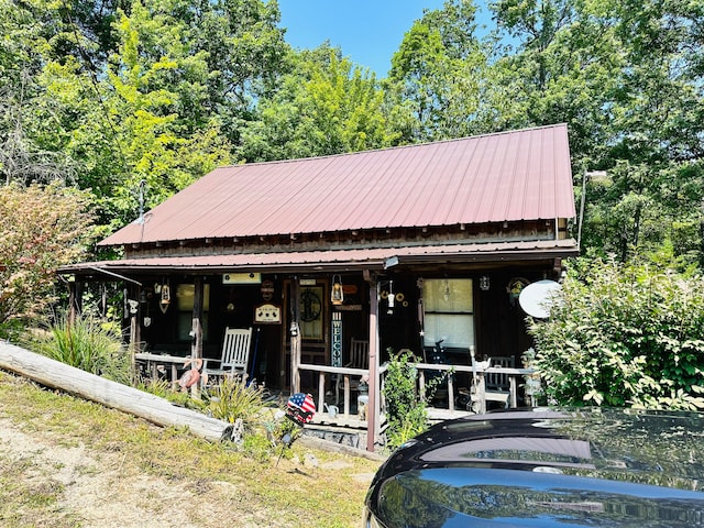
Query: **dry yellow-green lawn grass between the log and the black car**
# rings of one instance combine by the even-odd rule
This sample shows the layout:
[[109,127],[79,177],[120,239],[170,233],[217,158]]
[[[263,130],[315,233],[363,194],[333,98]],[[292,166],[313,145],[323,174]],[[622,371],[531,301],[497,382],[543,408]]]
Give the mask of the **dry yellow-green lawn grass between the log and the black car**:
[[[187,490],[191,502],[195,496],[196,503],[207,502],[229,517],[212,518],[202,508],[189,514],[191,526],[242,526],[241,516],[254,516],[258,526],[359,526],[369,479],[380,464],[297,443],[280,461],[276,455],[251,458],[233,444],[161,428],[4,372],[0,372],[0,419],[43,442],[81,447],[97,460],[117,455],[122,473]],[[305,464],[306,454],[317,464]],[[18,460],[0,452],[0,524],[85,526],[80,512],[59,506],[67,490],[52,480],[56,470],[36,466],[31,457]],[[163,497],[153,502],[154,508],[175,507]]]

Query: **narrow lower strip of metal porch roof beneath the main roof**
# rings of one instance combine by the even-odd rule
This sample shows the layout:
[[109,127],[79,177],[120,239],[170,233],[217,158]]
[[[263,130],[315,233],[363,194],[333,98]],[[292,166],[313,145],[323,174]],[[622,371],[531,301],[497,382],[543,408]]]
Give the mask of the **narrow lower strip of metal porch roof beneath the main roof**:
[[403,265],[510,262],[575,256],[573,239],[407,248],[348,249],[278,253],[239,253],[198,256],[155,256],[119,261],[85,262],[64,266],[59,273],[109,272],[221,272],[240,270],[315,272],[386,270]]

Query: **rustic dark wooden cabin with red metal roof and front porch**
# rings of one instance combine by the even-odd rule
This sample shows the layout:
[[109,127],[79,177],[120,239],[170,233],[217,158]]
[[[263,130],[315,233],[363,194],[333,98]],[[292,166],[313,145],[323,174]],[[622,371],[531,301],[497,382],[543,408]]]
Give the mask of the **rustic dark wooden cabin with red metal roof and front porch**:
[[62,273],[77,307],[88,285],[119,282],[133,350],[172,367],[220,358],[227,328],[253,328],[250,377],[338,404],[374,450],[392,354],[453,369],[433,402],[449,410],[475,358],[520,365],[531,342],[518,296],[579,254],[574,217],[556,124],[219,167],[99,243],[120,258]]

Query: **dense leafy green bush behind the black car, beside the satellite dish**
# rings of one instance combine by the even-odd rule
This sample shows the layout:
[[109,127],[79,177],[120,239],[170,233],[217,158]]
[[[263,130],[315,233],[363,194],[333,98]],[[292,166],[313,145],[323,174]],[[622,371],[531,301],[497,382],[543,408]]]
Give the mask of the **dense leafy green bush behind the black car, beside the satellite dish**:
[[576,260],[549,320],[531,321],[549,403],[704,408],[704,280]]

